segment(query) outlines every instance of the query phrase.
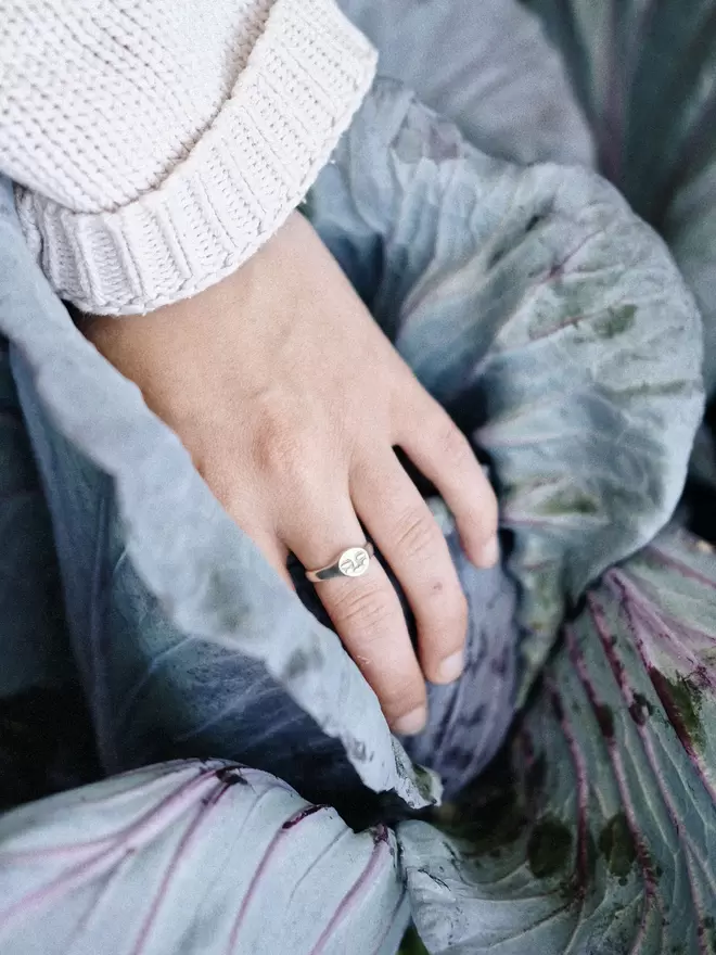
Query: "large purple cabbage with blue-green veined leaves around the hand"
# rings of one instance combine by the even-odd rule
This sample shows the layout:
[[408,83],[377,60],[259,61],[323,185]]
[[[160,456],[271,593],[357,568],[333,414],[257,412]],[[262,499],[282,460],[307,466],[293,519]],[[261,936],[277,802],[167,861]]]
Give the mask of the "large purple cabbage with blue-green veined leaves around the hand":
[[[407,71],[401,31],[345,2],[398,37],[384,62]],[[461,3],[452,12],[470,16]],[[699,297],[707,370],[712,5],[679,17],[668,0],[539,0],[602,169],[662,229]],[[389,17],[407,29],[427,7],[396,2]],[[452,36],[436,9],[431,49]],[[474,27],[475,84],[456,99],[450,67],[460,79],[465,63],[446,56],[421,91],[490,153],[589,164],[590,135],[535,17],[485,3]],[[510,69],[517,54],[530,71]],[[42,763],[8,799],[97,776],[90,727],[104,773],[207,760],[1,817],[0,948],[389,955],[410,911],[432,953],[716,951],[716,559],[678,530],[653,540],[702,411],[699,318],[664,245],[592,173],[489,158],[393,82],[376,85],[308,212],[498,488],[502,569],[472,569],[444,520],[471,606],[465,675],[430,689],[422,737],[391,737],[310,590],[302,603],[282,587],[79,336],[5,184],[0,331],[54,517],[72,642],[71,655],[2,353],[0,517],[26,571],[0,563],[0,728],[20,727],[10,759],[0,739],[0,772],[27,778],[23,742]],[[97,523],[69,535],[67,512]],[[82,561],[100,537],[98,615]],[[46,687],[59,696],[35,695]],[[439,799],[411,759],[449,798],[430,823],[398,822]]]

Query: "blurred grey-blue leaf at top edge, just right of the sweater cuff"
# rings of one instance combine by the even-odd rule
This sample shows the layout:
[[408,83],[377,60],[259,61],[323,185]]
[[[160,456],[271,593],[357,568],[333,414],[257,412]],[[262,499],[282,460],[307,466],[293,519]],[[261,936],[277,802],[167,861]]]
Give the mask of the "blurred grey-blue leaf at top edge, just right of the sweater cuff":
[[489,155],[591,165],[591,132],[561,58],[515,0],[340,0],[411,87]]

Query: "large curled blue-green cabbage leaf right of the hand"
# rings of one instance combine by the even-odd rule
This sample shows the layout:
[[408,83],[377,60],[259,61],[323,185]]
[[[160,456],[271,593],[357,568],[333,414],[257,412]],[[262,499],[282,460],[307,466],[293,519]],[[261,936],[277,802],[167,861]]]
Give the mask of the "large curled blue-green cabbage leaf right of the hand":
[[526,687],[565,604],[679,497],[702,411],[692,297],[594,174],[489,158],[389,82],[310,209],[418,378],[489,456]]

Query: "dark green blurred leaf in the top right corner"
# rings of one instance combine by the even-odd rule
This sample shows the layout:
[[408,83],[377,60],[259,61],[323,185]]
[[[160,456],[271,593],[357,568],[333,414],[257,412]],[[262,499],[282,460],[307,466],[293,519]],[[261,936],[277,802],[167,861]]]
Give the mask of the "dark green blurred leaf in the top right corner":
[[[716,386],[716,5],[529,0],[564,54],[602,170],[659,228],[704,316]],[[516,69],[515,65],[515,69]]]

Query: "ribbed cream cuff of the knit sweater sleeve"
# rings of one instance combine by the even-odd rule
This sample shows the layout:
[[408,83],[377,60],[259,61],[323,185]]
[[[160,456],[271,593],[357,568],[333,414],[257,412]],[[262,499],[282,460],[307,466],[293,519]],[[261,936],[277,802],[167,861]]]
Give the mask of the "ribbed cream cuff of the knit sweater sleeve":
[[372,47],[331,0],[277,0],[231,97],[156,190],[97,214],[18,191],[56,293],[84,311],[131,315],[230,275],[303,200],[374,68]]

